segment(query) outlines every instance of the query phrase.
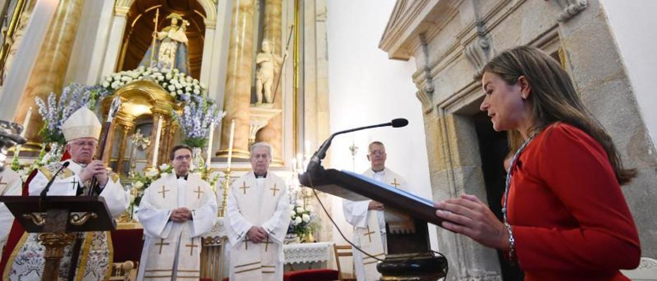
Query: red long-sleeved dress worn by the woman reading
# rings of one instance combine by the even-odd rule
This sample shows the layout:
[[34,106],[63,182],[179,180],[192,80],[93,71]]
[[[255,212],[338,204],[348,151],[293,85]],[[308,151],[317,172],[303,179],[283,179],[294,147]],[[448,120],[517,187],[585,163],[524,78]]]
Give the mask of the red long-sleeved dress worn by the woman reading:
[[536,135],[512,171],[509,223],[525,280],[629,280],[639,234],[607,154],[565,123]]

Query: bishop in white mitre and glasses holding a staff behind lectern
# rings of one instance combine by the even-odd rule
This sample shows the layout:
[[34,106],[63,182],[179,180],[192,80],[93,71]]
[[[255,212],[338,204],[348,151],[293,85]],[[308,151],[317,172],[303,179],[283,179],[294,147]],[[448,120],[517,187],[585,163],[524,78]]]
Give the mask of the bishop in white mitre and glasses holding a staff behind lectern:
[[[110,173],[100,160],[93,160],[101,134],[101,122],[96,114],[82,107],[64,121],[62,133],[66,139],[66,151],[70,159],[66,167],[53,182],[47,196],[79,196],[86,194],[91,179],[96,178],[100,194],[110,213],[117,217],[129,204],[127,192],[121,186],[119,177]],[[64,162],[41,167],[30,174],[27,186],[30,196],[39,196],[45,185]],[[16,223],[12,227],[7,247],[3,253],[2,280],[41,280],[43,274],[43,253],[45,248],[37,241],[37,234],[20,233]],[[15,230],[16,229],[16,230]],[[15,231],[14,231],[15,230]],[[81,250],[76,267],[75,280],[102,280],[108,274],[111,261],[111,241],[109,232],[85,232],[82,234]],[[11,242],[12,238],[20,241]],[[12,245],[11,245],[12,244]],[[14,247],[15,246],[15,247]],[[60,262],[59,279],[68,277],[72,257],[72,245],[64,248]],[[10,255],[7,255],[10,254]],[[7,265],[5,267],[5,265]]]

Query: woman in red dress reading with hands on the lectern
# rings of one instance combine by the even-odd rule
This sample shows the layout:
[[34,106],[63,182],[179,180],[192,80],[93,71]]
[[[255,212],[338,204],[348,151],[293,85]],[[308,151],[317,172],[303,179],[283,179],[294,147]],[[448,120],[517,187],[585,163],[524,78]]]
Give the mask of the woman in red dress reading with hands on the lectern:
[[481,110],[508,131],[500,222],[476,196],[436,202],[442,227],[501,249],[525,280],[629,280],[641,247],[620,185],[636,176],[568,74],[533,47],[516,47],[484,68]]

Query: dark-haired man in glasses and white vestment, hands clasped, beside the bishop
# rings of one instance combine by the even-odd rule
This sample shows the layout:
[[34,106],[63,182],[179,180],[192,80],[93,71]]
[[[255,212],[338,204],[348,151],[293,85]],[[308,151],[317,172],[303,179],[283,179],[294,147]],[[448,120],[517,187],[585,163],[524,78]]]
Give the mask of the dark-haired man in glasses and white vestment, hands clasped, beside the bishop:
[[170,159],[174,173],[151,183],[137,209],[146,234],[137,280],[198,280],[200,236],[217,221],[210,184],[189,173],[192,149],[173,146]]

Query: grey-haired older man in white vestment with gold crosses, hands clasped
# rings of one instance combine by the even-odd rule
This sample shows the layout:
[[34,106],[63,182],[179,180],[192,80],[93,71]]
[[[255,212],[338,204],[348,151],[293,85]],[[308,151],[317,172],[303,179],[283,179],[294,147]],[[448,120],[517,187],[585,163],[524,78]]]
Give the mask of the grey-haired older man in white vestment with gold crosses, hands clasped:
[[290,204],[283,179],[269,172],[271,146],[251,146],[252,171],[229,192],[225,227],[231,281],[283,280],[283,240],[290,225]]

